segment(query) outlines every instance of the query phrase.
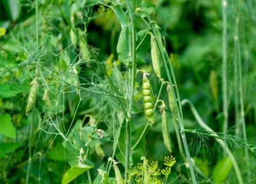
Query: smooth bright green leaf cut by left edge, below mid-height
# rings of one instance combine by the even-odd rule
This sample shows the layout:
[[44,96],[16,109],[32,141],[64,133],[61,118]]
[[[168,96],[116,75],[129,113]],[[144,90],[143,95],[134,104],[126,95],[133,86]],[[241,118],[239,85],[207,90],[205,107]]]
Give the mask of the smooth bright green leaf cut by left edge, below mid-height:
[[4,134],[10,138],[16,138],[16,130],[11,122],[9,114],[0,116],[0,134]]

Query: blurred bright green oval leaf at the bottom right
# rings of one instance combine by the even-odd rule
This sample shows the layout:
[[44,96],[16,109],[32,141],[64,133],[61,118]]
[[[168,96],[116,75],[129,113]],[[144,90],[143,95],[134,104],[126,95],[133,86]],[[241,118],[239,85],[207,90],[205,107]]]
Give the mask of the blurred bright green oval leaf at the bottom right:
[[214,171],[212,173],[212,180],[216,184],[221,184],[226,179],[230,169],[232,168],[232,162],[229,157],[224,157],[218,161],[218,163],[214,167]]

